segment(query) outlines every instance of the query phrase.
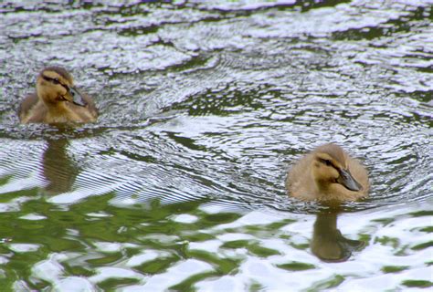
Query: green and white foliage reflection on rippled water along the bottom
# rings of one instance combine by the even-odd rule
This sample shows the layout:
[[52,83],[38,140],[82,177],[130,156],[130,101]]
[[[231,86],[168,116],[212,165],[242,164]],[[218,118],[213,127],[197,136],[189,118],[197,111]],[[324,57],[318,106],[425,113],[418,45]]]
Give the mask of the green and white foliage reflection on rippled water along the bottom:
[[[371,278],[372,288],[378,283],[392,288],[414,279],[427,283],[429,269],[422,266],[430,255],[428,213],[343,215],[343,233],[370,246],[355,252],[356,261],[333,267],[312,255],[317,254],[314,247],[310,252],[310,245],[330,251],[328,244],[334,243],[328,239],[333,234],[320,239],[318,232],[324,230],[317,227],[318,220],[332,225],[333,215],[315,219],[158,200],[125,207],[110,203],[113,196],[92,196],[67,206],[53,205],[33,193],[10,193],[9,202],[21,202],[19,212],[1,214],[3,222],[13,223],[2,227],[5,284],[59,290],[71,285],[284,290],[336,287],[344,281],[342,289],[354,288],[356,279],[363,277]],[[330,222],[322,224],[333,227]],[[359,285],[368,288],[365,282]]]

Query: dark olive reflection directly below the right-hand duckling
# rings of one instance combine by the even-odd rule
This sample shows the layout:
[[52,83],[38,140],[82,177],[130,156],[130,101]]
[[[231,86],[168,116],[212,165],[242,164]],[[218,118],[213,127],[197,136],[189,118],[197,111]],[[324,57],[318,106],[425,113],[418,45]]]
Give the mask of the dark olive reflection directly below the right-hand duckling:
[[347,239],[342,235],[337,228],[336,213],[317,215],[310,247],[322,261],[343,262],[364,246],[364,241]]

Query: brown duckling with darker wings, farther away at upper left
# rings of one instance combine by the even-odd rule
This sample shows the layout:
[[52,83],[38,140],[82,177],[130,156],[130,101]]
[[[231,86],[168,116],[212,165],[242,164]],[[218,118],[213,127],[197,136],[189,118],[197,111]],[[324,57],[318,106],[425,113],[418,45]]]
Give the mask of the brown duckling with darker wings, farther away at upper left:
[[37,76],[36,89],[19,107],[23,124],[92,122],[98,117],[93,100],[74,87],[74,79],[65,68],[44,68]]

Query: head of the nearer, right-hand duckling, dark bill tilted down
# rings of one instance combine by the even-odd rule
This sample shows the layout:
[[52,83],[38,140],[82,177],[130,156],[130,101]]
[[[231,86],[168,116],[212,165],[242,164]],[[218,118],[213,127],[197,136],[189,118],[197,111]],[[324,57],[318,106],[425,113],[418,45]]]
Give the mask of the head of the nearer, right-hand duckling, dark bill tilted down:
[[317,187],[327,191],[332,185],[339,184],[349,191],[361,191],[363,187],[352,176],[347,160],[340,146],[326,144],[317,148],[312,158],[312,176]]

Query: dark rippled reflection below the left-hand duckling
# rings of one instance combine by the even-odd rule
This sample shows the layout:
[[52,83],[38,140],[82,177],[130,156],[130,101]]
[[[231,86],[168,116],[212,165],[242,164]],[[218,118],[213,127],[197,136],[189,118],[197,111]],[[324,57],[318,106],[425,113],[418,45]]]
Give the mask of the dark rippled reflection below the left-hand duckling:
[[42,173],[48,184],[44,190],[49,195],[66,193],[72,189],[79,169],[69,158],[66,139],[49,140],[42,157]]

